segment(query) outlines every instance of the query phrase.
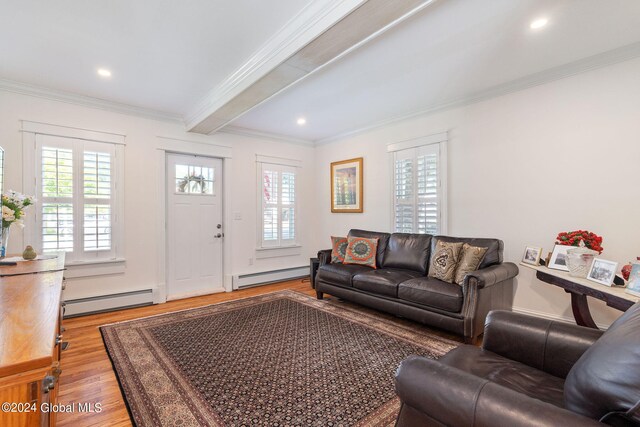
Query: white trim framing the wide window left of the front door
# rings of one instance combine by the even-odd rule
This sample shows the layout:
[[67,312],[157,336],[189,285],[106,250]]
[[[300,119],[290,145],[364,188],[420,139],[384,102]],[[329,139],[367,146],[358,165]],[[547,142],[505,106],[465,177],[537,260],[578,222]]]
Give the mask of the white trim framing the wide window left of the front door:
[[[40,218],[42,213],[42,200],[38,197],[38,191],[41,183],[38,183],[38,179],[41,176],[41,165],[38,164],[41,153],[38,153],[38,135],[53,136],[70,138],[72,142],[75,140],[86,144],[86,148],[90,150],[94,143],[109,144],[113,149],[113,168],[112,168],[112,215],[114,220],[111,230],[111,242],[112,250],[109,257],[70,257],[65,263],[67,266],[82,265],[101,265],[105,263],[120,264],[123,266],[126,261],[124,253],[124,234],[125,234],[125,221],[124,221],[124,192],[120,191],[124,188],[124,147],[125,147],[125,135],[119,135],[115,133],[106,133],[100,131],[92,131],[86,129],[78,129],[66,126],[57,126],[46,123],[38,123],[31,121],[22,121],[22,133],[23,133],[23,182],[24,191],[26,194],[36,195],[39,200],[36,202],[34,209],[36,212],[28,215],[25,218],[26,227],[24,229],[25,241],[41,242],[40,229],[37,227],[37,218]],[[73,144],[71,144],[73,145]],[[94,146],[95,147],[95,146]],[[74,169],[75,172],[75,169]],[[80,175],[78,175],[80,176]],[[82,181],[82,180],[80,180]],[[77,181],[79,182],[79,181]],[[80,185],[80,184],[78,184]],[[82,222],[80,223],[82,224]],[[74,236],[75,239],[75,236]],[[75,247],[75,242],[74,242]],[[100,252],[100,251],[97,251]],[[83,250],[84,253],[84,250]],[[92,271],[87,268],[77,277],[94,276],[100,274],[99,271]]]

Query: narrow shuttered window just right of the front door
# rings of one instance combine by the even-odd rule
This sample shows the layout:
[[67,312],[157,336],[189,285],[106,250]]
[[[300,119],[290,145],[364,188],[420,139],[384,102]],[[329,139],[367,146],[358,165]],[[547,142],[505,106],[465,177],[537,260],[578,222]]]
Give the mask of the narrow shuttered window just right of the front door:
[[296,168],[258,163],[260,174],[259,244],[262,248],[296,245]]

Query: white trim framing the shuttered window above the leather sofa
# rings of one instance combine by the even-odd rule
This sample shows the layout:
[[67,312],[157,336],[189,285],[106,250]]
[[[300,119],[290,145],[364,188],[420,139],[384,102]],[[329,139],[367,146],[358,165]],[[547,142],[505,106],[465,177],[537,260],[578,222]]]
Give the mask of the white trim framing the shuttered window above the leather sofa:
[[427,146],[438,146],[438,164],[440,166],[440,173],[438,174],[439,187],[438,187],[438,199],[440,200],[440,226],[438,234],[446,235],[449,231],[448,225],[448,132],[440,132],[432,135],[421,136],[418,138],[412,138],[404,141],[393,142],[387,145],[387,152],[389,155],[389,170],[391,171],[391,230],[395,230],[396,221],[396,198],[395,198],[395,153],[398,151],[404,151],[409,149],[420,149]]

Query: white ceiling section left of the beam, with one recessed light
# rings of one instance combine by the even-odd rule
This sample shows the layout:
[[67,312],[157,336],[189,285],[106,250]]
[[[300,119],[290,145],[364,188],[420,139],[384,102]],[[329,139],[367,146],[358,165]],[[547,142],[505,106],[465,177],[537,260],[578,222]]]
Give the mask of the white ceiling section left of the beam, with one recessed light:
[[0,78],[183,116],[310,2],[0,0]]

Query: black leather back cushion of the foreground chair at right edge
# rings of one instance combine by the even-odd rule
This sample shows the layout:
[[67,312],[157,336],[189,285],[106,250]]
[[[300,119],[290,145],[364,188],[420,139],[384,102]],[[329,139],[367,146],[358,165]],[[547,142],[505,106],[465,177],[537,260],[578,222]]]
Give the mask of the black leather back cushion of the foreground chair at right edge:
[[[600,419],[622,412],[640,423],[640,303],[618,318],[569,371],[566,408]],[[634,408],[635,410],[632,410]]]

